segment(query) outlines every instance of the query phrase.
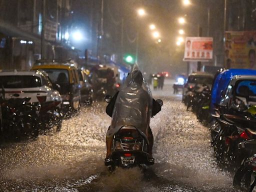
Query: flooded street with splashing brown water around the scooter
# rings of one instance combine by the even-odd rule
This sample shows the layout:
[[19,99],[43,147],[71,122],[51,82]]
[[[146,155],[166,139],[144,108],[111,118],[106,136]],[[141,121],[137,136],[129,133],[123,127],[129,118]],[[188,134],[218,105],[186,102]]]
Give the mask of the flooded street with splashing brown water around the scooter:
[[2,143],[0,191],[235,191],[232,175],[218,168],[209,131],[186,111],[179,96],[153,91],[163,99],[151,119],[155,164],[139,168],[104,166],[105,133],[110,117],[105,103],[95,102],[35,140]]

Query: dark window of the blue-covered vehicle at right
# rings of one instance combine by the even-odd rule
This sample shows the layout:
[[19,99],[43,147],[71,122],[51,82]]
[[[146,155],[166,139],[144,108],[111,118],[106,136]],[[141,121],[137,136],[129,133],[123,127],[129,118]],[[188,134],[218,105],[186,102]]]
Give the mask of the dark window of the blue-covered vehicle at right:
[[236,96],[256,98],[256,79],[239,80],[235,84]]

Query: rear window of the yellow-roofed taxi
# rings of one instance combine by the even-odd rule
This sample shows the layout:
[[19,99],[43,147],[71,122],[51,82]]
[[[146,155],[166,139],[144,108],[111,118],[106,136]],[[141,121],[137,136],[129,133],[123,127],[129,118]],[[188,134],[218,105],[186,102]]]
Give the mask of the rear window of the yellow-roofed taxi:
[[69,82],[68,70],[66,69],[45,68],[43,70],[48,73],[48,76],[53,83],[63,84]]

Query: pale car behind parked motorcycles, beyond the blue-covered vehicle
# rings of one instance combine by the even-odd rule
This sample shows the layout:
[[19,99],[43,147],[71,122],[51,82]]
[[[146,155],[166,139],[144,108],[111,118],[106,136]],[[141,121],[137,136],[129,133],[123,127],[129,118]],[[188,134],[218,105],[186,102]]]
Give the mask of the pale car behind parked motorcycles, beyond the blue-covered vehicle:
[[213,81],[213,75],[205,72],[194,72],[188,75],[186,83],[184,84],[182,90],[182,101],[184,101],[185,94],[189,88],[194,87],[195,85],[207,85],[211,88]]

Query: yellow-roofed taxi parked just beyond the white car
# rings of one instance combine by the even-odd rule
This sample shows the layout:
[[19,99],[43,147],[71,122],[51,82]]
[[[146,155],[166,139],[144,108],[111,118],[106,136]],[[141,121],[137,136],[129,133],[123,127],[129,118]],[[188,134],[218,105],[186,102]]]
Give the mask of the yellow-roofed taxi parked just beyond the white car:
[[47,72],[50,80],[59,85],[59,93],[65,111],[77,109],[80,103],[80,83],[77,68],[70,60],[37,60],[31,70],[42,69]]

